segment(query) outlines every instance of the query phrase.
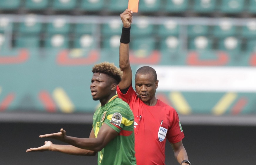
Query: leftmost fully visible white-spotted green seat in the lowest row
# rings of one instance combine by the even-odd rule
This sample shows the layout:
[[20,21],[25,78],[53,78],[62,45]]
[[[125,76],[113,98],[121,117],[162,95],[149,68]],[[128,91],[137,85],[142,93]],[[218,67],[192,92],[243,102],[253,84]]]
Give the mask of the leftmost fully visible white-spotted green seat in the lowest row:
[[52,34],[45,38],[44,41],[45,48],[69,48],[69,38],[67,35],[63,34]]

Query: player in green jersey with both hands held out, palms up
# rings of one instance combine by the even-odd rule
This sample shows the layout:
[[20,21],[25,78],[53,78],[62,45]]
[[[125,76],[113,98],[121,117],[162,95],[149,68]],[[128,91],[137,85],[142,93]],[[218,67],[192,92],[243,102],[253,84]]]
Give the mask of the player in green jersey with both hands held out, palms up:
[[54,138],[70,145],[56,145],[45,141],[45,145],[30,148],[32,151],[57,151],[71,155],[91,156],[98,153],[100,165],[135,165],[134,116],[129,105],[118,98],[116,87],[122,79],[122,72],[114,64],[103,62],[94,65],[91,78],[91,95],[99,100],[99,107],[93,116],[93,128],[89,138],[67,136],[66,131],[40,135],[40,138]]

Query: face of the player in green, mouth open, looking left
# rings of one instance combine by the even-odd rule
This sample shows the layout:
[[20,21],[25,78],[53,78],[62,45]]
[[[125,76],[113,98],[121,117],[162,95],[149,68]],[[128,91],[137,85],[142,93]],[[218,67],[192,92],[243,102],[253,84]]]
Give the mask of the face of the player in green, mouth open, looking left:
[[91,78],[91,96],[94,100],[106,99],[111,94],[112,81],[104,73],[93,73]]

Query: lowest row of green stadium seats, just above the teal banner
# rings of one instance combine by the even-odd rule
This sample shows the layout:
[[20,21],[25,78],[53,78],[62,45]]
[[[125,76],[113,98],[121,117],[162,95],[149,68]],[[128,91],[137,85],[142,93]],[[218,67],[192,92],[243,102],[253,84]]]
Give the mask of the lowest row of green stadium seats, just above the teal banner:
[[[119,49],[120,35],[103,36],[96,38],[90,34],[69,36],[53,34],[49,36],[14,36],[9,38],[0,33],[0,50],[5,48],[83,48],[92,49]],[[12,45],[11,45],[12,43]],[[181,38],[166,36],[155,38],[153,36],[131,37],[130,49],[140,52],[153,50],[179,52],[187,50],[226,50],[232,52],[256,52],[256,38],[242,39],[235,36],[226,38],[212,38],[197,36],[194,38]],[[146,53],[147,54],[147,53]]]

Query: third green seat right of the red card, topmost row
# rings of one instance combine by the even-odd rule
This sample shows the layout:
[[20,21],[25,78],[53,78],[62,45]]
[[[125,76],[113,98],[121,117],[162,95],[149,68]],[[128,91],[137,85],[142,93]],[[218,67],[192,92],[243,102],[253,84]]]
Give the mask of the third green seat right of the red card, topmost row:
[[216,10],[216,0],[195,0],[193,10],[196,13],[211,13]]

